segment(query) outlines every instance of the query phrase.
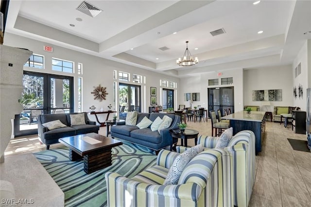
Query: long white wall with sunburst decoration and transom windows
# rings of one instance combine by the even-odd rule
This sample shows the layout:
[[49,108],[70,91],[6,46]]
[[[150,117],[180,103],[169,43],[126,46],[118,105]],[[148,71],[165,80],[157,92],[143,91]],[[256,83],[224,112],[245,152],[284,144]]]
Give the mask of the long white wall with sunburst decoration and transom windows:
[[[45,61],[45,69],[34,69],[29,67],[24,67],[26,70],[31,71],[37,71],[37,72],[44,72],[44,73],[51,73],[51,74],[62,74],[67,76],[73,76],[74,77],[74,100],[75,100],[75,111],[77,111],[78,108],[78,77],[83,78],[83,88],[82,88],[82,94],[83,94],[83,108],[82,111],[90,111],[89,107],[91,105],[96,106],[96,110],[100,110],[101,107],[104,108],[104,110],[108,110],[107,106],[108,104],[114,104],[114,90],[113,90],[113,84],[114,84],[114,78],[113,78],[113,71],[123,71],[123,72],[129,72],[131,74],[138,74],[142,75],[143,77],[146,77],[145,84],[141,85],[142,90],[142,112],[148,112],[148,106],[150,106],[150,87],[156,87],[157,88],[157,102],[160,104],[160,79],[167,80],[167,81],[173,81],[177,83],[177,86],[179,86],[179,78],[153,72],[146,69],[140,69],[137,67],[121,64],[115,61],[107,60],[101,57],[89,55],[82,52],[76,52],[73,50],[69,50],[66,48],[62,48],[59,46],[55,46],[52,44],[47,44],[44,42],[36,41],[33,39],[29,39],[26,37],[13,35],[10,33],[5,34],[4,44],[12,47],[18,47],[18,48],[27,48],[34,52],[34,54],[40,54],[44,55],[44,61]],[[43,46],[52,46],[53,52],[45,52],[43,50]],[[65,73],[65,72],[58,72],[52,70],[52,57],[64,59],[73,61],[75,64],[75,68],[77,68],[78,63],[83,64],[83,74],[78,75],[77,73]],[[77,69],[76,69],[77,70]],[[129,82],[126,82],[129,83]],[[101,84],[101,86],[107,87],[106,91],[108,95],[106,96],[106,100],[99,102],[97,100],[93,99],[93,95],[91,92],[93,91],[93,86],[98,86]],[[133,82],[130,84],[134,84]],[[177,92],[177,89],[175,89]],[[118,109],[117,109],[118,110]]]

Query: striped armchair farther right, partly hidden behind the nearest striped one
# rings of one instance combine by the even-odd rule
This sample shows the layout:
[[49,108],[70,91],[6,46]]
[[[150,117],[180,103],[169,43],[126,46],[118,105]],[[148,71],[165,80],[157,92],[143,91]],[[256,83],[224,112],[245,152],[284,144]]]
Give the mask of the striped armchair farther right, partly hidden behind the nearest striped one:
[[[218,140],[218,137],[201,135],[197,143],[212,149]],[[187,148],[176,147],[176,150],[182,153]],[[225,151],[230,154],[233,168],[234,206],[247,207],[255,183],[255,134],[248,130],[237,133],[231,138]]]

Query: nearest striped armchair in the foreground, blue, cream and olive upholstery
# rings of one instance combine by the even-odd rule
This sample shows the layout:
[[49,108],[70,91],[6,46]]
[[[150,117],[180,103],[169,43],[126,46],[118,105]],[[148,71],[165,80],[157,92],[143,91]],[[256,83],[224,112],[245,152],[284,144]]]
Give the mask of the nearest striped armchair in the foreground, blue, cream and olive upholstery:
[[129,179],[106,173],[109,207],[231,207],[230,155],[206,150],[186,166],[177,185],[162,185],[178,153],[161,150],[155,166]]

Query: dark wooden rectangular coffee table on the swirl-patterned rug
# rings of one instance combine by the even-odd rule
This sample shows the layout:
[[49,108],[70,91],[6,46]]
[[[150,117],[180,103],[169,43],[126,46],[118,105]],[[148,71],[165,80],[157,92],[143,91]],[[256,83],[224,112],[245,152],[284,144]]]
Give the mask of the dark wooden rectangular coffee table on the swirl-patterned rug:
[[69,148],[69,159],[84,161],[84,171],[89,174],[112,163],[111,148],[123,144],[121,141],[107,138],[96,133],[60,138],[59,142]]

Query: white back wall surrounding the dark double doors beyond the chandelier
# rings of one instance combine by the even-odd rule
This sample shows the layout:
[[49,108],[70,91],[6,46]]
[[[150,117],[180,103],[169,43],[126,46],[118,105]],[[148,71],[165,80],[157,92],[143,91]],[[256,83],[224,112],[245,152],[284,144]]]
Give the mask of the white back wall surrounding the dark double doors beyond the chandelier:
[[[201,105],[202,107],[208,108],[207,88],[234,86],[234,110],[241,111],[243,109],[243,70],[225,70],[222,71],[221,76],[217,75],[218,72],[208,72],[190,78],[182,78],[180,80],[180,104],[185,104],[186,107],[189,107],[189,103],[184,101],[184,93],[200,93],[200,101],[193,102],[192,107]],[[233,77],[233,85],[208,86],[209,79],[219,79],[218,82],[221,84],[221,78],[230,77]]]

